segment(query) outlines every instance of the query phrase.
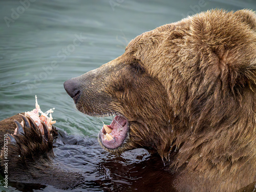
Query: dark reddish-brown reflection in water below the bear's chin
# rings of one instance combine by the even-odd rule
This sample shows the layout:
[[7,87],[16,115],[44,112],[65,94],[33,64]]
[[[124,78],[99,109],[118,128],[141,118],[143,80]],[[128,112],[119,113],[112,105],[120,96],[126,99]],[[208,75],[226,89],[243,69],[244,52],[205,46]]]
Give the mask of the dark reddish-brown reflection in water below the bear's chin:
[[[99,164],[97,170],[100,169],[102,180],[97,182],[106,191],[174,191],[172,176],[164,170],[159,157],[144,159],[147,155],[140,150],[131,153],[137,157],[134,156],[135,159],[129,163],[125,159],[115,158]],[[141,159],[140,163],[136,162],[138,158]]]

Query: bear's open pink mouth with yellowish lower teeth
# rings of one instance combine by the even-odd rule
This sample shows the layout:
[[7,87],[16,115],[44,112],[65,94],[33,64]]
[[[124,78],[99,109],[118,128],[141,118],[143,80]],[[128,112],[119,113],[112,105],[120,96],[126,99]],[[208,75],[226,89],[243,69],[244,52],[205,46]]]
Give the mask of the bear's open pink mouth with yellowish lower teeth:
[[126,118],[117,115],[110,125],[103,125],[99,132],[99,142],[106,148],[115,149],[129,137],[129,125]]

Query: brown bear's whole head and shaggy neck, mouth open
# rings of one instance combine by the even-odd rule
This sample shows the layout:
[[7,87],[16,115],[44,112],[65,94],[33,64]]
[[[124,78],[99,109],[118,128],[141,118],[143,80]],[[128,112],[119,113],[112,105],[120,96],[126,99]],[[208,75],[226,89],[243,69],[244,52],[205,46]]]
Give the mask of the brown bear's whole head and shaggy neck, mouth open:
[[64,86],[80,112],[116,115],[98,135],[105,150],[151,148],[177,191],[254,186],[254,12],[211,10],[145,32]]

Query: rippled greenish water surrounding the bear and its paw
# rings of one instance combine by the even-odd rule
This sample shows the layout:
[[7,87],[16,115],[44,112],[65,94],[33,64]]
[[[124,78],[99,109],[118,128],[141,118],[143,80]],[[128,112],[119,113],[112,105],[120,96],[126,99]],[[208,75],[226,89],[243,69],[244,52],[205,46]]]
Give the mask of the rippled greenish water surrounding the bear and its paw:
[[[86,184],[77,191],[148,191],[147,187],[167,186],[168,180],[153,182],[144,188],[138,186],[152,179],[148,173],[153,170],[159,169],[158,174],[166,175],[161,160],[144,150],[129,152],[121,158],[103,152],[97,143],[97,134],[102,121],[108,123],[111,118],[94,118],[78,112],[63,89],[63,82],[118,57],[137,35],[187,15],[212,8],[256,9],[253,0],[21,2],[26,3],[0,1],[0,120],[34,109],[35,95],[42,111],[55,108],[53,117],[64,138],[57,141],[56,161],[64,161],[67,167],[88,175]],[[65,139],[63,144],[61,141]],[[77,141],[81,144],[74,145]],[[136,155],[131,155],[133,153]],[[132,157],[127,160],[129,154]],[[143,158],[137,161],[137,157]],[[108,174],[108,170],[115,170],[113,162],[119,167],[129,163],[133,166],[125,173],[120,172],[119,179],[114,180]],[[152,164],[159,167],[152,168]],[[104,168],[105,172],[101,172]],[[137,174],[132,174],[135,172]],[[10,189],[28,190],[22,186],[13,183]],[[29,187],[31,191],[38,189],[34,185]],[[56,190],[52,186],[41,188]]]

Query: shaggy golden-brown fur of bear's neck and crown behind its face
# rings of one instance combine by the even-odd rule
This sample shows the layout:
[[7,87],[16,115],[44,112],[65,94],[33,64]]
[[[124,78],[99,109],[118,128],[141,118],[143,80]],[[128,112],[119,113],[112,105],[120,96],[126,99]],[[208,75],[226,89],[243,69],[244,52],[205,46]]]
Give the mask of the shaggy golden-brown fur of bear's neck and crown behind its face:
[[168,94],[174,132],[159,154],[178,170],[181,191],[235,191],[256,181],[255,32],[250,10],[210,10],[126,48]]

